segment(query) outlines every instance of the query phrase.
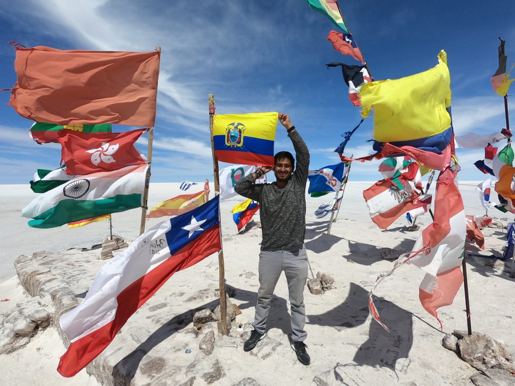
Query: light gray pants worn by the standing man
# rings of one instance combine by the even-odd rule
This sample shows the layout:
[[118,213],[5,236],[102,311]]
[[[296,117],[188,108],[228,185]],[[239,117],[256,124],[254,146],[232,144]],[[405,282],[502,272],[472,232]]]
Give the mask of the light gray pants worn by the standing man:
[[306,323],[304,286],[307,280],[305,245],[296,250],[261,251],[259,254],[260,287],[253,326],[261,334],[265,333],[272,293],[282,271],[284,271],[288,283],[291,339],[302,342],[307,337],[306,331],[304,331],[304,324]]

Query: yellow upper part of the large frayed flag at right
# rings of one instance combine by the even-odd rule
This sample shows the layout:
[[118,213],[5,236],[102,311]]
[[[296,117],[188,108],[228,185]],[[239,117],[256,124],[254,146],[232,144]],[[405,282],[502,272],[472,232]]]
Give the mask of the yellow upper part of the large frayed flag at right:
[[365,83],[359,90],[362,116],[373,107],[373,137],[380,142],[411,141],[440,134],[451,127],[451,77],[447,54],[440,51],[438,64],[401,79]]

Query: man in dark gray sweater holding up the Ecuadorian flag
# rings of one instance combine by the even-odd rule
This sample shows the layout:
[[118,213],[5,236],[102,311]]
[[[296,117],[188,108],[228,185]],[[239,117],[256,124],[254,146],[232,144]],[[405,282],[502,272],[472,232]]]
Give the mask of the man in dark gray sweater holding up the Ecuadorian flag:
[[[249,339],[243,349],[250,351],[265,337],[266,320],[274,288],[281,272],[288,282],[291,304],[291,348],[297,353],[299,362],[310,364],[306,352],[306,331],[304,324],[304,286],[307,280],[307,254],[304,245],[306,233],[306,181],[310,164],[310,153],[300,134],[291,125],[289,117],[279,114],[279,121],[286,128],[297,156],[297,168],[291,153],[281,151],[274,156],[274,166],[263,167],[239,181],[234,190],[241,196],[260,203],[261,230],[263,241],[259,259],[258,304]],[[256,184],[255,180],[272,170],[276,182]]]

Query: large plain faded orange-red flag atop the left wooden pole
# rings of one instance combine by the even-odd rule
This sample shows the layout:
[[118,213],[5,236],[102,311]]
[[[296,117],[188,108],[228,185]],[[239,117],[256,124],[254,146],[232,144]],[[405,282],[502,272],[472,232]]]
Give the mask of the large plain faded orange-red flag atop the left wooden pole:
[[56,125],[154,126],[161,52],[14,48],[18,81],[9,104],[21,116]]

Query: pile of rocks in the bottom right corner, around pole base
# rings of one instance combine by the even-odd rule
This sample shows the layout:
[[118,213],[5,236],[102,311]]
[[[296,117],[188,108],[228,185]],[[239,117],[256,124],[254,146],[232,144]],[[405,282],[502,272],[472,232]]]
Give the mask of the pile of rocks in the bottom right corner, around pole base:
[[488,335],[472,332],[469,336],[467,331],[454,330],[443,337],[442,345],[482,372],[471,377],[476,386],[515,383],[515,361],[501,342]]

